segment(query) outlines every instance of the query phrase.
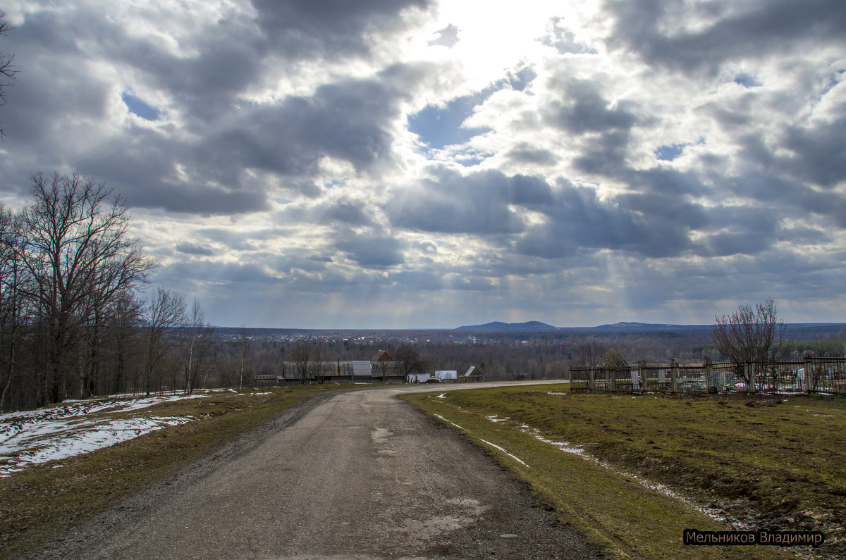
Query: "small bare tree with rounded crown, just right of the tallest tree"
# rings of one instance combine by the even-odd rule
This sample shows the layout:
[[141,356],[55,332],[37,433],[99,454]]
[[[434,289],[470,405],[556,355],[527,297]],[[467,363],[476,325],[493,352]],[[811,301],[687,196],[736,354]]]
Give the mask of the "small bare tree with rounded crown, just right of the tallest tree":
[[147,305],[144,335],[146,338],[146,395],[150,396],[153,372],[168,352],[178,343],[168,330],[185,321],[185,300],[181,294],[158,288]]

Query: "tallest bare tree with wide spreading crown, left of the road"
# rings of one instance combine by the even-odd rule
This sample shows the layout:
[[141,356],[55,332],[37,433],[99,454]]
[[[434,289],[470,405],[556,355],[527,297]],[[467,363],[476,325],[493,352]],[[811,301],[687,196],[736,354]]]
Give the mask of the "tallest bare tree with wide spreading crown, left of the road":
[[53,173],[32,177],[35,199],[21,212],[24,239],[18,249],[33,283],[25,295],[35,301],[47,326],[50,402],[66,396],[74,368],[79,327],[115,294],[146,283],[154,261],[129,236],[124,200],[109,202],[112,190],[91,178]]

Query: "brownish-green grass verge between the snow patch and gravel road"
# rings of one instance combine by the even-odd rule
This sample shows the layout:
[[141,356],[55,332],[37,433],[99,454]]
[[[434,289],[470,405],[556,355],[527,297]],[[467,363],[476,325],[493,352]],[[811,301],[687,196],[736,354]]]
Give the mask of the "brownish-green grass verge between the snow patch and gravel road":
[[310,396],[350,385],[272,387],[244,393],[211,393],[126,413],[125,416],[191,416],[112,447],[31,466],[0,478],[0,558],[19,557],[75,524],[211,452]]

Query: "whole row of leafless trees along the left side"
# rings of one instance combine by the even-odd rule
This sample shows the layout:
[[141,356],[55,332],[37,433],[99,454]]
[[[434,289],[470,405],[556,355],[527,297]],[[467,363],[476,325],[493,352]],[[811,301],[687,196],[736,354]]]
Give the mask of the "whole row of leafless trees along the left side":
[[130,235],[124,200],[80,175],[32,177],[20,211],[0,203],[0,410],[103,393],[192,391],[211,368],[196,300],[162,288]]

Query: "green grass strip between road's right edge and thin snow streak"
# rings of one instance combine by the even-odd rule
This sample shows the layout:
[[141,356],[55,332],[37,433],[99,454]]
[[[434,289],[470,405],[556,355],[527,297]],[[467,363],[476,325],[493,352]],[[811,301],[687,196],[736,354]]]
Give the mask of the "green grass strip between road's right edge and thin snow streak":
[[[430,415],[440,415],[449,423],[461,426],[471,441],[478,443],[519,479],[528,482],[541,501],[555,508],[563,523],[573,524],[613,556],[793,557],[771,546],[685,546],[685,529],[727,530],[727,527],[678,499],[647,489],[613,469],[603,468],[574,453],[565,453],[526,433],[520,425],[535,424],[526,421],[518,409],[530,412],[530,408],[514,398],[515,394],[525,392],[561,392],[561,386],[458,391],[446,393],[444,398],[414,394],[403,398]],[[556,415],[561,415],[562,397],[552,397],[558,398]],[[504,414],[506,410],[508,414]],[[493,422],[488,419],[492,415],[510,416],[511,420]],[[542,433],[552,441],[563,439],[560,432],[542,430]],[[481,440],[502,447],[526,466]]]

